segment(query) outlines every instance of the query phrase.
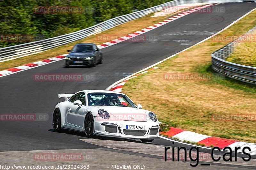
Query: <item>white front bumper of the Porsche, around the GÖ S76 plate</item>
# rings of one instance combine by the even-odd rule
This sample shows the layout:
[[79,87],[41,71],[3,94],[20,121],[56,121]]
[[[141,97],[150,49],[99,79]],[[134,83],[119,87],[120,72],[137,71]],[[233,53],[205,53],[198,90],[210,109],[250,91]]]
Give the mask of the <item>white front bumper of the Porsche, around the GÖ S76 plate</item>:
[[[158,122],[147,121],[98,121],[94,118],[94,134],[105,137],[131,138],[131,139],[159,139]],[[102,123],[113,123],[115,125],[102,125]],[[126,125],[145,126],[145,130],[129,130]],[[154,127],[155,126],[155,127]],[[156,127],[158,126],[158,127]]]

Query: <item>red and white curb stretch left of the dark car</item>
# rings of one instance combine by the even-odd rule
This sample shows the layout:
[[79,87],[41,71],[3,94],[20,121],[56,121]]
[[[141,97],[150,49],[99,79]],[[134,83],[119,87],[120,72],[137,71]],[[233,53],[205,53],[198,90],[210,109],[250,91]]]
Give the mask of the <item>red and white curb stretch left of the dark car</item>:
[[6,75],[9,75],[9,74],[13,74],[13,73],[16,73],[16,72],[28,70],[28,69],[38,67],[38,66],[41,66],[41,65],[44,65],[44,64],[56,62],[56,61],[64,59],[65,56],[67,56],[67,55],[68,54],[63,54],[63,55],[59,55],[59,56],[56,56],[56,57],[47,58],[47,59],[42,60],[42,61],[37,61],[37,62],[34,62],[34,63],[21,65],[19,67],[14,67],[14,68],[11,68],[11,69],[3,70],[3,71],[0,71],[0,77],[6,76]]

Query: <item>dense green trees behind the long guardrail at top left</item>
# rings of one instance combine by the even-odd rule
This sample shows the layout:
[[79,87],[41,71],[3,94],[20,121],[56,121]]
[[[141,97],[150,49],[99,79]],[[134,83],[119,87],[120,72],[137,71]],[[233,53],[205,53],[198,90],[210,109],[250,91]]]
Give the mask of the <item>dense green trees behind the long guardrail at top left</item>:
[[[163,4],[168,0],[12,0],[0,1],[0,35],[43,35],[51,38],[110,18]],[[38,6],[76,6],[81,13],[35,13]],[[0,41],[0,48],[24,42]]]

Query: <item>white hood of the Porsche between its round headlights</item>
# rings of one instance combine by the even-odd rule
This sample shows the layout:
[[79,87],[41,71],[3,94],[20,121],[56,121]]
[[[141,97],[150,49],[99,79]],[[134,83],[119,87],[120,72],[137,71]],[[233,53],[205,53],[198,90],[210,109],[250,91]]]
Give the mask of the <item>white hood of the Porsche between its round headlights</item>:
[[147,114],[143,109],[133,107],[119,107],[119,106],[94,106],[99,109],[106,110],[110,119],[125,120],[125,121],[147,121]]

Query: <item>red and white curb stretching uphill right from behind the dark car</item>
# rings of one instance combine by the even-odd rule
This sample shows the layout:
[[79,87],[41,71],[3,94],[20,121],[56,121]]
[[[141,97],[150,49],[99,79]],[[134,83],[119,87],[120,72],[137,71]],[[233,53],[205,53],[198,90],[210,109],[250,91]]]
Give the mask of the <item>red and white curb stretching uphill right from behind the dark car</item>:
[[100,44],[100,45],[98,45],[97,47],[99,47],[99,48],[105,48],[105,47],[109,47],[109,46],[112,46],[112,45],[114,45],[114,44],[117,44],[117,43],[119,43],[119,42],[129,40],[129,39],[131,39],[131,38],[133,38],[133,37],[136,37],[136,36],[138,36],[138,35],[140,35],[140,34],[143,34],[143,33],[146,33],[146,32],[148,32],[148,31],[151,31],[152,29],[155,29],[155,28],[157,28],[157,27],[159,27],[159,26],[163,26],[164,24],[167,24],[167,23],[172,22],[172,21],[174,21],[174,20],[176,20],[176,19],[179,19],[179,18],[181,18],[181,17],[184,17],[184,16],[186,16],[186,15],[188,15],[188,14],[190,14],[190,13],[193,13],[193,12],[195,12],[195,11],[198,11],[198,10],[201,10],[201,9],[203,9],[203,8],[207,8],[207,7],[210,7],[210,6],[213,6],[213,5],[218,5],[218,4],[223,4],[223,3],[214,3],[214,4],[208,4],[208,5],[203,5],[203,6],[199,6],[199,7],[193,8],[193,9],[191,9],[191,10],[188,10],[188,11],[182,12],[182,13],[176,15],[176,16],[173,16],[173,17],[171,17],[171,18],[169,18],[169,19],[166,19],[166,20],[164,20],[164,21],[162,21],[162,22],[159,22],[159,23],[157,23],[157,24],[154,24],[153,26],[149,26],[149,27],[147,27],[147,28],[141,29],[140,31],[136,31],[136,32],[134,32],[134,33],[125,35],[125,36],[123,36],[123,37],[121,37],[121,38],[118,38],[118,39],[115,39],[115,40],[112,40],[112,41],[109,41],[109,42],[105,42],[105,43],[103,43],[103,44]]

